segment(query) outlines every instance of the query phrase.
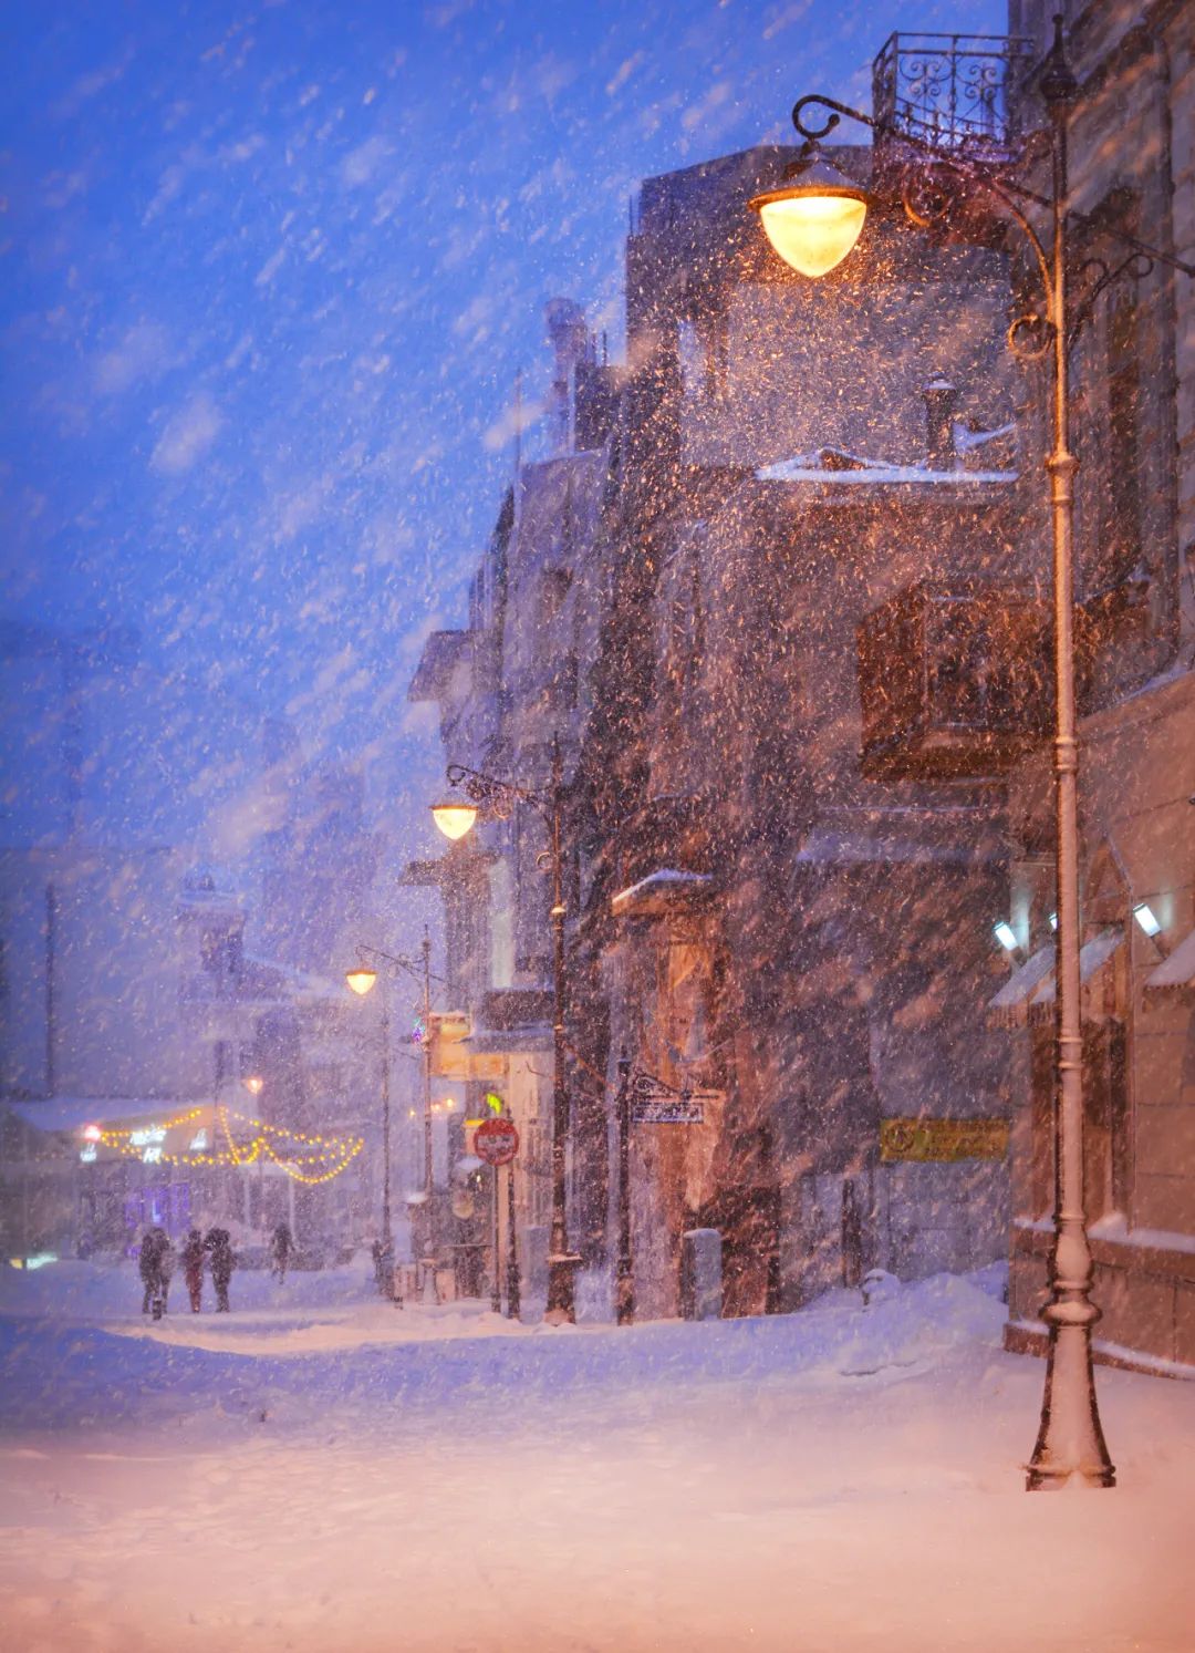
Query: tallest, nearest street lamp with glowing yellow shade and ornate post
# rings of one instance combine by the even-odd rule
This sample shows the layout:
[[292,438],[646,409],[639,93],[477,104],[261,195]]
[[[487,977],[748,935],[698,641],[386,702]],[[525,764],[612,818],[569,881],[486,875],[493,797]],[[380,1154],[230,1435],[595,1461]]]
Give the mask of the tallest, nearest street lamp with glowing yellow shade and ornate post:
[[[1045,314],[1020,316],[1008,329],[1008,344],[1015,354],[1026,359],[1053,357],[1051,435],[1053,451],[1045,461],[1050,476],[1050,509],[1053,524],[1053,600],[1055,600],[1055,815],[1056,815],[1056,876],[1058,876],[1058,927],[1056,962],[1058,980],[1055,1023],[1055,1241],[1050,1256],[1050,1303],[1043,1319],[1050,1329],[1046,1385],[1041,1405],[1041,1427],[1028,1466],[1026,1488],[1059,1488],[1069,1481],[1086,1486],[1114,1486],[1116,1471],[1104,1445],[1096,1403],[1096,1377],[1091,1360],[1091,1329],[1099,1319],[1099,1309],[1091,1301],[1093,1258],[1088,1243],[1086,1215],[1083,1208],[1083,1036],[1079,1028],[1079,838],[1078,838],[1078,739],[1074,719],[1074,638],[1073,638],[1073,534],[1074,534],[1074,473],[1078,460],[1069,448],[1069,385],[1068,349],[1084,321],[1091,317],[1094,301],[1112,281],[1127,276],[1140,279],[1155,263],[1170,264],[1188,276],[1195,266],[1185,264],[1154,246],[1129,235],[1116,235],[1127,248],[1127,256],[1116,266],[1091,261],[1094,279],[1079,306],[1071,311],[1066,294],[1068,269],[1068,124],[1078,98],[1078,81],[1066,61],[1063,18],[1055,17],[1055,41],[1040,78],[1040,91],[1050,116],[1051,132],[1051,190],[1038,195],[1018,183],[997,180],[992,172],[964,154],[919,139],[901,127],[835,102],[831,98],[810,96],[793,107],[793,126],[803,139],[817,139],[831,132],[841,116],[869,126],[879,137],[891,137],[909,149],[932,157],[937,179],[964,183],[969,188],[987,190],[1021,226],[1031,248],[1045,288]],[[826,111],[821,126],[807,124],[808,107]],[[863,230],[866,202],[856,190],[858,228],[848,243],[845,195],[833,180],[826,182],[808,169],[805,182],[797,180],[787,188],[757,195],[750,205],[760,213],[764,228],[793,269],[817,276],[831,269],[846,256]],[[1026,208],[1046,208],[1050,235],[1038,235]],[[906,185],[902,205],[907,217],[926,225],[940,217],[949,205],[939,195],[937,203],[914,202]],[[828,246],[825,225],[838,215],[840,235]],[[778,228],[777,228],[778,226]],[[1046,245],[1048,241],[1048,245]],[[843,248],[838,258],[831,253]],[[830,261],[826,261],[830,260]],[[823,268],[818,268],[821,264]]]

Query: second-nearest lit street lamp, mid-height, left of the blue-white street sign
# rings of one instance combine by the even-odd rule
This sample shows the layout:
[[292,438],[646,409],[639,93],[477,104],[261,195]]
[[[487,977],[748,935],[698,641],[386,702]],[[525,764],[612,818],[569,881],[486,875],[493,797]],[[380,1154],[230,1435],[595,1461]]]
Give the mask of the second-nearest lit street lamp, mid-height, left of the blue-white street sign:
[[[560,817],[564,813],[564,764],[560,737],[552,737],[552,780],[547,788],[522,787],[514,780],[483,775],[464,764],[448,765],[448,785],[461,793],[431,805],[436,826],[446,838],[463,838],[478,818],[478,807],[489,805],[496,817],[516,803],[529,803],[547,822],[549,850],[540,858],[552,878],[552,1238],[547,1256],[547,1311],[554,1319],[575,1319],[574,1270],[580,1256],[569,1250],[565,1212],[565,1146],[569,1141],[569,1088],[564,1076],[564,855]],[[468,825],[461,825],[464,818]]]

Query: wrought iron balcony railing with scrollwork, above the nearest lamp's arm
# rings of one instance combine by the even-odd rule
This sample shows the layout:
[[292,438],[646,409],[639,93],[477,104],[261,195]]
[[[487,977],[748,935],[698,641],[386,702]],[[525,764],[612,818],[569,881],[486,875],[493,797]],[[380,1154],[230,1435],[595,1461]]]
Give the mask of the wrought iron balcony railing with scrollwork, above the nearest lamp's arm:
[[940,149],[1012,160],[1021,136],[1016,88],[1031,53],[1020,36],[889,35],[871,64],[876,121]]

